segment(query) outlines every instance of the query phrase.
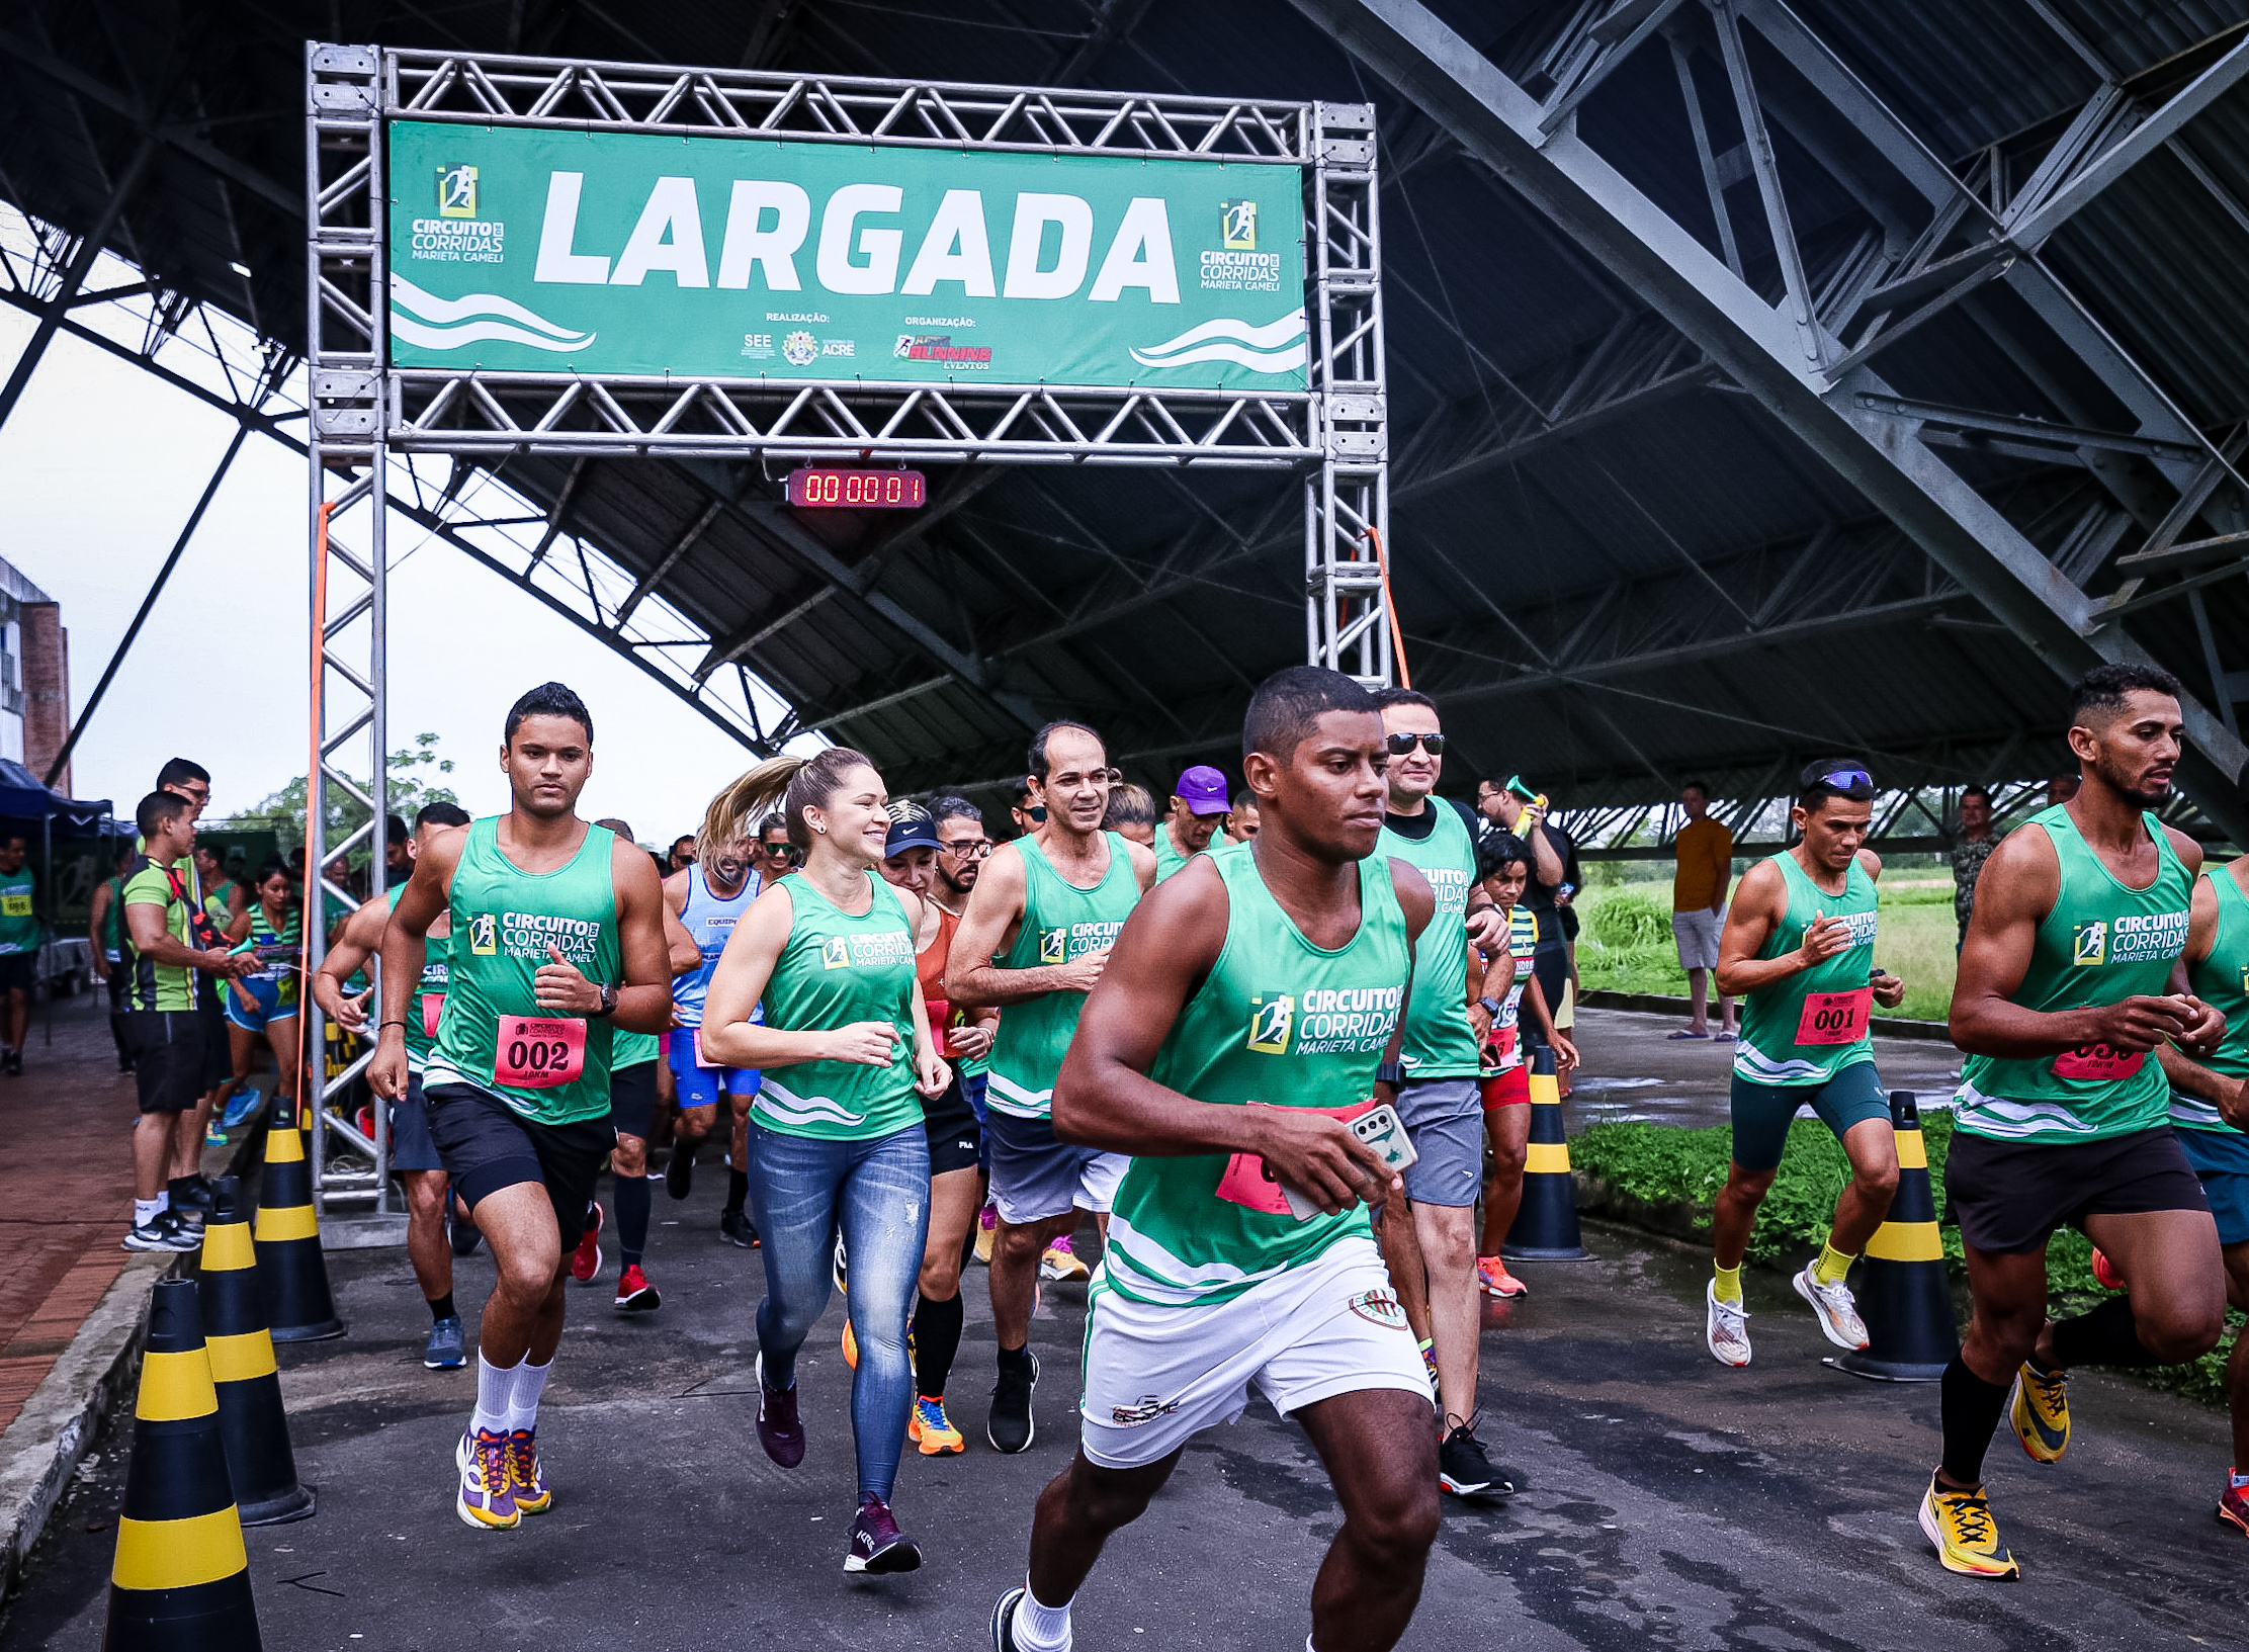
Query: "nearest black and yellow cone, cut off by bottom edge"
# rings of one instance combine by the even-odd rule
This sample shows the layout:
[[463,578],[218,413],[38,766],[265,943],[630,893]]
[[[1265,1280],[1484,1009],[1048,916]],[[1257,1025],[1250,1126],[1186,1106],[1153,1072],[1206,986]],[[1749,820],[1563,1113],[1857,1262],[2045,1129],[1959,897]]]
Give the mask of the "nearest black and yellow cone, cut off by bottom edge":
[[218,1436],[218,1394],[196,1286],[162,1279],[133,1407],[101,1652],[256,1652],[250,1558]]

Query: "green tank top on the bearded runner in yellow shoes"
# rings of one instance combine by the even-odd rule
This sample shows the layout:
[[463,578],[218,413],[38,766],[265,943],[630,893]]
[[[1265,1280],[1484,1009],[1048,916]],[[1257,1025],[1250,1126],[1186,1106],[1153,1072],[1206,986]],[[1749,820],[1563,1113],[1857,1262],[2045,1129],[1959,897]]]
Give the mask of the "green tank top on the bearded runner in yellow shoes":
[[[2170,966],[2186,951],[2193,881],[2164,825],[2152,814],[2141,823],[2157,852],[2155,881],[2143,890],[2116,881],[2078,836],[2067,805],[2017,827],[2044,827],[2062,868],[2062,890],[2038,924],[2031,966],[2015,989],[2024,1009],[2085,1009],[2170,991]],[[1959,1128],[2006,1142],[2098,1142],[2164,1124],[2168,1097],[2152,1056],[2107,1045],[2058,1056],[1968,1056]]]

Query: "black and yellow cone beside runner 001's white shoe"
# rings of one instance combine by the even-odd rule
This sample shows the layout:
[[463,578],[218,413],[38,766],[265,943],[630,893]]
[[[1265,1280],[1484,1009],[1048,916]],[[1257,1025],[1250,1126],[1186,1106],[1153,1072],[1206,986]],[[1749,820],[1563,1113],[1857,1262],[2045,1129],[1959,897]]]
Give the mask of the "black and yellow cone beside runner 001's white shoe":
[[1936,1191],[1912,1090],[1889,1092],[1889,1128],[1898,1140],[1898,1191],[1889,1218],[1867,1241],[1855,1288],[1867,1346],[1826,1364],[1876,1382],[1934,1382],[1961,1340],[1952,1326],[1952,1277],[1936,1236]]

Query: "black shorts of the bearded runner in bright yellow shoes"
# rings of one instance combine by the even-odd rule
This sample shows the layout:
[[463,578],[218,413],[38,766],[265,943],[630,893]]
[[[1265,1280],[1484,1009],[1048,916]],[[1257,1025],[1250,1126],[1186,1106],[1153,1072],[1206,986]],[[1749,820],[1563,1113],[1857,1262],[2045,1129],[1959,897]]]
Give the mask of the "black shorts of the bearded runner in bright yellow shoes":
[[1952,1133],[1945,1205],[1972,1250],[2022,1256],[2087,1216],[2209,1209],[2168,1124],[2103,1142],[1999,1142]]

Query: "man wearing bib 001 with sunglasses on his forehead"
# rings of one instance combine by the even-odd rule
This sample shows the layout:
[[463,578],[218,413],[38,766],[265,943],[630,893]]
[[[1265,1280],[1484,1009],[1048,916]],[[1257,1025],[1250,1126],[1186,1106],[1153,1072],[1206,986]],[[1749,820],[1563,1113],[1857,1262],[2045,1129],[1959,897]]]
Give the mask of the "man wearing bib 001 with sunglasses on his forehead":
[[1718,1364],[1736,1367],[1750,1362],[1741,1259],[1797,1108],[1817,1113],[1851,1160],[1819,1256],[1790,1279],[1837,1349],[1867,1346],[1844,1277],[1898,1191],[1898,1144],[1873,1070],[1873,1007],[1896,1009],[1905,982],[1873,966],[1873,881],[1882,877],[1880,856],[1864,847],[1873,775],[1844,757],[1808,764],[1788,823],[1797,845],[1750,868],[1718,937],[1718,991],[1741,998],[1741,1036],[1734,1158],[1711,1214],[1702,1342]]

